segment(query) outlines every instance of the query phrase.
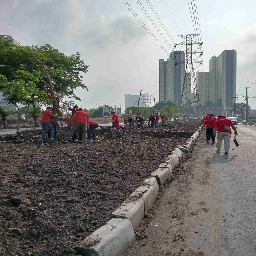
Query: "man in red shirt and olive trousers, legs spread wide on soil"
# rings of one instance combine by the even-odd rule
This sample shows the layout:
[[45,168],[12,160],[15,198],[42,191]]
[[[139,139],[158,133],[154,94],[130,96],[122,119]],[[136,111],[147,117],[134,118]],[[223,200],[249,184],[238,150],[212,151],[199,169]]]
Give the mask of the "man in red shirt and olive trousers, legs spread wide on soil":
[[71,123],[74,123],[71,131],[69,132],[67,139],[63,140],[64,142],[69,143],[73,134],[79,129],[82,128],[82,140],[84,143],[87,140],[87,124],[89,124],[89,115],[83,111],[82,108],[78,108],[74,113],[71,119]]

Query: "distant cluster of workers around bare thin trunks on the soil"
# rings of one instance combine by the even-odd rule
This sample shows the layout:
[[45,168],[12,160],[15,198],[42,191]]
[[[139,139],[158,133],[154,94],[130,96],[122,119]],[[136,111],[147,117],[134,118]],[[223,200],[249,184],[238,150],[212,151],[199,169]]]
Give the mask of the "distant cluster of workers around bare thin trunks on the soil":
[[[160,118],[161,118],[162,124],[164,124],[165,118],[162,114],[160,115],[155,114],[155,116],[150,114],[148,116],[148,126],[150,125],[150,122],[151,122],[152,129],[155,130],[156,124],[158,124],[158,121],[160,120]],[[135,127],[133,118],[131,116],[128,116],[127,122],[129,124],[129,129],[131,129],[131,127],[136,129],[141,127],[141,130],[145,130],[147,121],[145,121],[144,116],[137,114],[135,121],[137,121],[138,127]]]

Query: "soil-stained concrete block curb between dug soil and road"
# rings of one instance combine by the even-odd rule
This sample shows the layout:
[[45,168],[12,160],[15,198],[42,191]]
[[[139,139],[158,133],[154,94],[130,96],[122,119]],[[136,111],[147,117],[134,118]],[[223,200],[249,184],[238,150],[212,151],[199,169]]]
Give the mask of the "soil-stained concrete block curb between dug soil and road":
[[138,228],[144,214],[154,204],[159,186],[171,179],[172,169],[179,164],[179,158],[189,152],[201,132],[200,125],[185,145],[177,145],[177,148],[174,148],[171,154],[164,159],[159,168],[150,173],[153,177],[143,180],[143,185],[112,212],[113,219],[86,237],[75,247],[76,251],[85,256],[122,255],[129,244],[135,240],[134,230]]

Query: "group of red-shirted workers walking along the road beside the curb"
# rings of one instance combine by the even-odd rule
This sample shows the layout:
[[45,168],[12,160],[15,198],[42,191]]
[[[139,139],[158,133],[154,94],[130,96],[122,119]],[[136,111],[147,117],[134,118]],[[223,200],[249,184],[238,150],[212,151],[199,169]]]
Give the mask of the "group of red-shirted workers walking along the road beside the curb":
[[203,117],[203,126],[206,126],[206,143],[209,144],[210,140],[212,139],[212,143],[215,142],[216,132],[217,133],[217,143],[215,151],[220,153],[222,140],[224,140],[224,150],[225,154],[229,153],[230,148],[230,138],[231,138],[231,129],[234,130],[235,135],[237,135],[236,127],[233,122],[226,118],[226,116],[219,115],[217,118],[213,114],[207,114]]

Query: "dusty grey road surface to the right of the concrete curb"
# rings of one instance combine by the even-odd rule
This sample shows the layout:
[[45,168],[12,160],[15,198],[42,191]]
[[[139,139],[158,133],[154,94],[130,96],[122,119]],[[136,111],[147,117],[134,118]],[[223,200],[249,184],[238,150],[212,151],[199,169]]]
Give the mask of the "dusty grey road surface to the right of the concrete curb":
[[256,127],[237,131],[240,146],[231,141],[230,155],[201,135],[137,229],[146,238],[125,256],[256,255]]

